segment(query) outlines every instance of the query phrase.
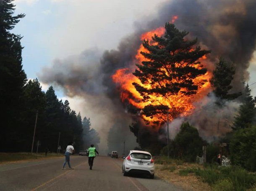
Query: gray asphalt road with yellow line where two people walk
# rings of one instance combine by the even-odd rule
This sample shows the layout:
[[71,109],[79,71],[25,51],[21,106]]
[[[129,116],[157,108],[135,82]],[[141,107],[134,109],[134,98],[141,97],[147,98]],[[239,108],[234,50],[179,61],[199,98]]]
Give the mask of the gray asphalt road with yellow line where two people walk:
[[[122,160],[97,156],[89,170],[86,156],[71,156],[74,170],[62,170],[63,158],[0,165],[0,191],[181,191],[157,177],[125,177]],[[68,164],[66,165],[68,168]]]

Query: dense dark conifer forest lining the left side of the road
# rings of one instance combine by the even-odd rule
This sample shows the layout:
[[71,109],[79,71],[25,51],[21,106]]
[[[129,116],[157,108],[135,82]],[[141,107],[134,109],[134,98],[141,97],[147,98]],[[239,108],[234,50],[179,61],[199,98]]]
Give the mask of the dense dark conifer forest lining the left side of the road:
[[28,152],[37,126],[34,151],[48,148],[57,152],[74,142],[84,150],[89,142],[99,143],[99,135],[91,129],[90,119],[71,110],[69,102],[59,100],[52,86],[44,92],[37,79],[28,80],[22,65],[21,35],[11,33],[24,14],[14,15],[12,0],[1,1],[0,9],[0,152]]

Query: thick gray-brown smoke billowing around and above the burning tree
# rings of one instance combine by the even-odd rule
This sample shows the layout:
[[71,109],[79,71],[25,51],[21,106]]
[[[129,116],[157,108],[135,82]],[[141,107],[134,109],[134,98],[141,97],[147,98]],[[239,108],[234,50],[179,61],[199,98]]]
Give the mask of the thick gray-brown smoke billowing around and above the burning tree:
[[[115,138],[117,144],[120,144],[123,142],[123,136],[127,134],[126,129],[133,116],[127,113],[128,105],[123,106],[120,102],[118,87],[113,83],[111,76],[120,68],[134,67],[134,58],[141,44],[141,34],[164,26],[173,15],[178,15],[178,20],[175,21],[177,28],[189,31],[189,38],[197,37],[200,46],[212,50],[209,54],[210,62],[206,66],[209,71],[214,69],[219,57],[234,63],[236,74],[232,91],[238,91],[243,88],[243,81],[248,80],[247,68],[255,50],[255,10],[255,0],[170,0],[159,8],[157,16],[137,21],[135,32],[123,39],[116,50],[101,54],[99,50],[91,49],[76,57],[56,60],[52,66],[43,70],[39,78],[44,83],[60,85],[69,96],[83,97],[86,107],[91,111],[91,116],[88,117],[92,119],[93,115],[98,116],[94,120],[100,126],[98,130],[101,136],[106,134],[110,127],[118,125],[119,131],[112,131],[108,138],[111,139],[112,136],[112,139]],[[215,98],[210,96],[205,99],[208,100],[207,103],[211,103]],[[205,101],[195,104],[201,107],[202,103]],[[218,108],[214,106],[207,112],[190,116],[189,120],[200,129],[204,137],[222,135],[227,132],[228,124],[239,103],[230,102],[226,105],[220,113],[216,112]],[[223,122],[227,119],[227,123]],[[125,133],[120,136],[120,132]],[[132,134],[127,136],[134,142]]]

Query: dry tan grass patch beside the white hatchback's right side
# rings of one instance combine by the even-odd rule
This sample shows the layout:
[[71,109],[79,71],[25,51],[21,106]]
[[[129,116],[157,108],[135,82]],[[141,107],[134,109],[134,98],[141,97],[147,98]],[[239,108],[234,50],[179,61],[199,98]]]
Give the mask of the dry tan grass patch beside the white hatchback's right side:
[[[175,167],[175,170],[172,167]],[[193,174],[188,174],[188,176],[180,176],[179,171],[187,168],[198,168],[201,165],[182,163],[173,160],[169,162],[168,165],[158,165],[156,164],[156,176],[159,178],[174,184],[185,191],[210,191],[211,188],[207,183],[202,182],[199,178]]]

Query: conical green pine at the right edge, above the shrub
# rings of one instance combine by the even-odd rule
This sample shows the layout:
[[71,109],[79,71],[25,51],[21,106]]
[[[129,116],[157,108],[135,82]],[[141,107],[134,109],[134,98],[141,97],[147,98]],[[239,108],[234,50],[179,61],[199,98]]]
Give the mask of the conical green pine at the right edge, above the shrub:
[[233,130],[246,129],[256,122],[256,98],[251,95],[251,90],[247,84],[244,90],[244,101],[239,107],[238,115],[232,125]]

